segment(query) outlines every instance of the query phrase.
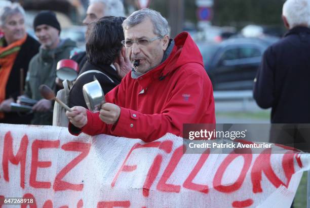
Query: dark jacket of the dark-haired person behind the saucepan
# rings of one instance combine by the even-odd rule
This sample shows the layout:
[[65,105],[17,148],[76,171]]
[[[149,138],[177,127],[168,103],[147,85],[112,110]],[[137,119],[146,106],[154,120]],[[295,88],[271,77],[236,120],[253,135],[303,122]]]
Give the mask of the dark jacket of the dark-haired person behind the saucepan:
[[86,102],[83,97],[83,86],[91,81],[94,81],[94,75],[99,81],[104,94],[107,94],[110,90],[118,86],[121,82],[121,79],[118,76],[117,71],[113,69],[110,65],[96,66],[86,61],[80,74],[85,71],[89,71],[89,70],[101,71],[104,74],[106,74],[108,77],[110,77],[113,80],[113,82],[109,78],[107,78],[104,74],[101,74],[101,73],[87,73],[85,75],[82,75],[81,77],[78,78],[78,80],[76,80],[72,89],[70,90],[70,93],[69,93],[69,106],[70,107],[83,106],[87,108]]

